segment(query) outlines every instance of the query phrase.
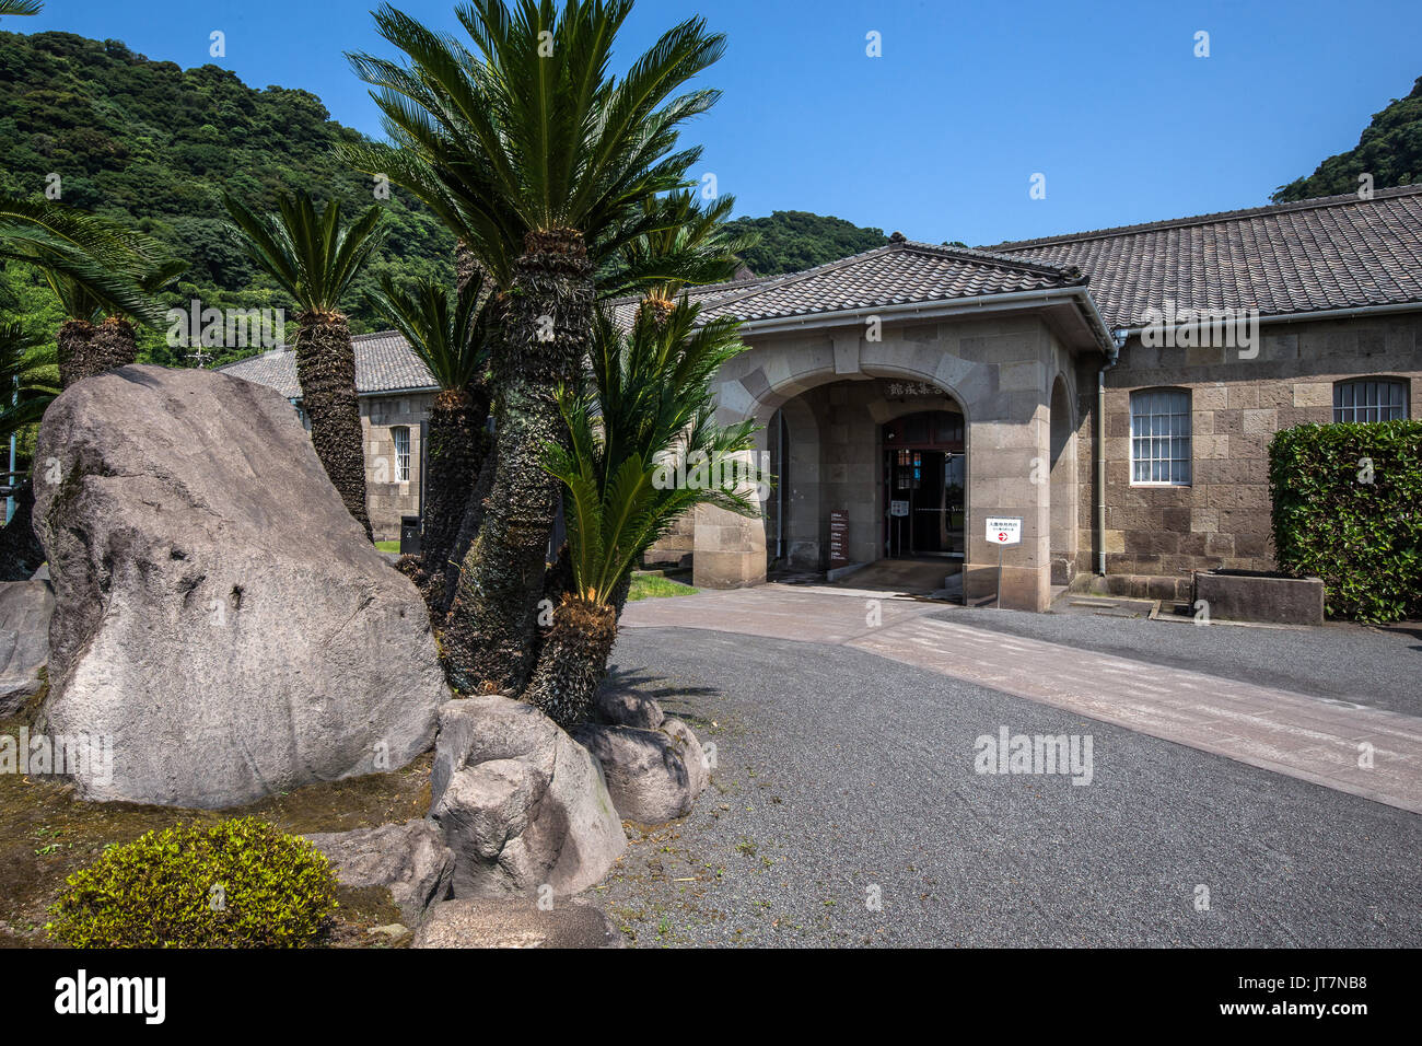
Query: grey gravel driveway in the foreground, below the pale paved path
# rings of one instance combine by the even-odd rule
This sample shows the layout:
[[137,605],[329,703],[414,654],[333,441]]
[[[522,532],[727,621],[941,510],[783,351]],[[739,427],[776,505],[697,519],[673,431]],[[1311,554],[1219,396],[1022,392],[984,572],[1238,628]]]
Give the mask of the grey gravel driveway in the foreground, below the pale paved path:
[[[717,746],[593,891],[638,946],[1422,945],[1422,817],[838,646],[646,628],[613,660]],[[1092,784],[975,774],[1001,726],[1089,734]]]

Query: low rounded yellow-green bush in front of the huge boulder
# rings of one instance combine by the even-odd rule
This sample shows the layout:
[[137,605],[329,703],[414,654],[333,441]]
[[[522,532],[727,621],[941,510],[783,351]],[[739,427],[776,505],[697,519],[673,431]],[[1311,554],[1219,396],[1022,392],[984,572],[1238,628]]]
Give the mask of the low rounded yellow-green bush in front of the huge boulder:
[[334,909],[326,857],[246,817],[108,850],[68,878],[48,931],[74,948],[300,948]]

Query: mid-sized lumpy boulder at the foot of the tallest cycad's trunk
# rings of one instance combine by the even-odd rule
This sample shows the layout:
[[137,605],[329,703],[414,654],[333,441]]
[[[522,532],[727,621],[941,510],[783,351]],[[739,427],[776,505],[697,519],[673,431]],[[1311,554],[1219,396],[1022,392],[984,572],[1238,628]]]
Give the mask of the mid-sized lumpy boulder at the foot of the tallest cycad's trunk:
[[432,797],[456,898],[577,894],[627,850],[597,760],[532,704],[499,694],[439,710]]

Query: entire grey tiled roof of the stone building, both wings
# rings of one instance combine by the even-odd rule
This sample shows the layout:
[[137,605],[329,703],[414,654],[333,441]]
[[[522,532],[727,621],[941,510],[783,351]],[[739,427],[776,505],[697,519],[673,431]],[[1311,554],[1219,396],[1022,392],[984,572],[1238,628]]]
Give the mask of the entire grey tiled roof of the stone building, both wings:
[[[1263,316],[1369,305],[1422,309],[1422,185],[1371,201],[1327,196],[1176,218],[1068,236],[946,248],[906,241],[805,272],[693,287],[702,317],[745,322],[917,302],[1086,286],[1111,326],[1140,326],[1148,309],[1258,309]],[[610,303],[630,324],[636,299]],[[429,371],[392,330],[358,334],[361,394],[434,389]],[[262,353],[228,374],[301,394],[293,353]]]

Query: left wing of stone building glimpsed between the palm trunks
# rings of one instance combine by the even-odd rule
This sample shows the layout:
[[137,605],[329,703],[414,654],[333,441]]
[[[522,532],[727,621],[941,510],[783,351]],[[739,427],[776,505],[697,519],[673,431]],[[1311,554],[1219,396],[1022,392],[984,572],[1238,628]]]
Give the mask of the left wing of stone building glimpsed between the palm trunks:
[[[375,541],[395,541],[401,517],[424,511],[427,423],[438,387],[395,332],[357,334],[351,342],[365,444],[365,507]],[[222,371],[272,386],[300,413],[294,352],[274,349],[229,363]],[[310,428],[304,413],[301,423]]]

